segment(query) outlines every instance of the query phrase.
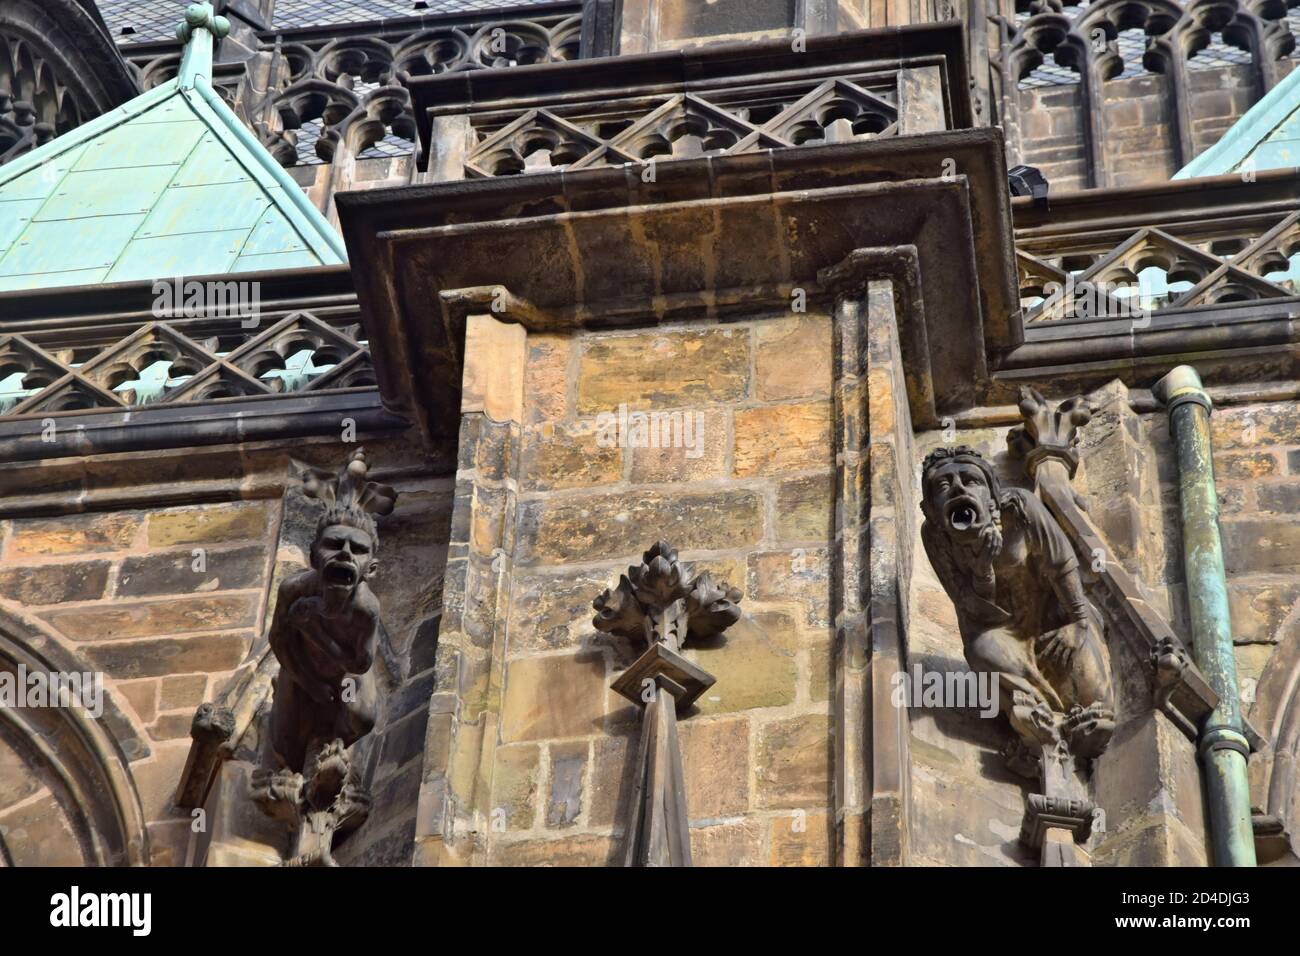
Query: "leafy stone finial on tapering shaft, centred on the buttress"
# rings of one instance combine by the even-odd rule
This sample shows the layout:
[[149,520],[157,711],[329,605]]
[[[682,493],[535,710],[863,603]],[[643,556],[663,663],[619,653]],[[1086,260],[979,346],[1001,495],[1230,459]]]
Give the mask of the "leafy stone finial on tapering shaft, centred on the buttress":
[[680,652],[688,639],[714,637],[740,620],[741,597],[707,572],[690,578],[677,553],[659,541],[593,602],[598,631],[646,643],[645,653],[614,683],[644,708],[625,866],[690,866],[677,713],[712,687],[714,676]]

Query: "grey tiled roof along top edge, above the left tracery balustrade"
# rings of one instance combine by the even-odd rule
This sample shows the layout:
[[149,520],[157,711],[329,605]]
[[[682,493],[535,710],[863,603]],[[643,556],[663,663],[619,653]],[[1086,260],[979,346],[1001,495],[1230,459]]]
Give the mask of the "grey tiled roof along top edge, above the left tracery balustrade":
[[[537,7],[554,0],[278,0],[274,26],[325,26],[390,17]],[[185,14],[183,0],[99,0],[100,13],[118,43],[148,43],[176,39],[176,25]],[[126,31],[126,33],[124,33]]]

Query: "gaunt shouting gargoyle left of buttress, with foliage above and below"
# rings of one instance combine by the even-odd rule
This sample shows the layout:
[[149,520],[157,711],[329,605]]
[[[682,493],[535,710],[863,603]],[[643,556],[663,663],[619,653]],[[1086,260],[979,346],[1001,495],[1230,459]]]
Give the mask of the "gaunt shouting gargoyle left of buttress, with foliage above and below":
[[396,492],[369,481],[367,471],[358,449],[337,476],[312,471],[304,477],[303,492],[324,505],[311,567],[280,584],[268,633],[280,672],[254,799],[299,826],[291,866],[335,865],[335,835],[355,830],[369,812],[351,747],[373,730],[377,715],[372,663],[381,623],[369,585],[378,570],[374,515],[393,511]]

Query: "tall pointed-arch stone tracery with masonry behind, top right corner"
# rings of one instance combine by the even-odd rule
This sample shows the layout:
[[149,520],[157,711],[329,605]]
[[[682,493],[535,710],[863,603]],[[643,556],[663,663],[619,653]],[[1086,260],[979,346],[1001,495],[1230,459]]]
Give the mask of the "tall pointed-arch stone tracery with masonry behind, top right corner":
[[1173,176],[1286,77],[1300,4],[1015,0],[994,21],[1011,161],[1105,189]]

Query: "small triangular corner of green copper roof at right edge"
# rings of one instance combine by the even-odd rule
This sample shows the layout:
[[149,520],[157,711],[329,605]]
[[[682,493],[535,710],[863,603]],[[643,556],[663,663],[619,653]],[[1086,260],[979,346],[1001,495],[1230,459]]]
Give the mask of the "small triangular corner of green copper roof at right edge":
[[1175,179],[1300,166],[1300,70],[1292,70]]

